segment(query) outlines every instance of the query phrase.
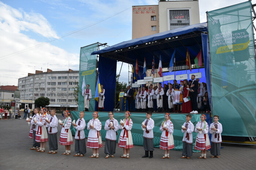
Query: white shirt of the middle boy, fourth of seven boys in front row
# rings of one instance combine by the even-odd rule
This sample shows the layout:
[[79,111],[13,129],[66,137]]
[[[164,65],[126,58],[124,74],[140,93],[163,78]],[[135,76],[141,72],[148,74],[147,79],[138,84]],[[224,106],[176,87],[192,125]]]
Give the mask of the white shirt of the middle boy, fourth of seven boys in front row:
[[107,131],[105,139],[108,139],[110,141],[116,141],[116,131],[119,130],[119,127],[118,127],[119,124],[116,119],[113,118],[112,120],[113,120],[113,127],[115,129],[110,129],[109,127],[110,119],[106,120],[105,126],[104,126],[104,129]]

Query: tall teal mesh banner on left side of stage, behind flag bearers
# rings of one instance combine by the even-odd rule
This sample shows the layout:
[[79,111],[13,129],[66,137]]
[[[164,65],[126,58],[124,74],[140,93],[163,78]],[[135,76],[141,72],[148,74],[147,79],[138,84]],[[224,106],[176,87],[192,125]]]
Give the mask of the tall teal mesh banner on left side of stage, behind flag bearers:
[[82,94],[83,78],[86,85],[90,85],[91,101],[89,110],[93,111],[95,106],[95,78],[96,78],[96,55],[91,55],[97,50],[98,43],[89,46],[81,47],[80,49],[80,64],[79,64],[79,94],[78,94],[78,110],[84,110],[84,96]]

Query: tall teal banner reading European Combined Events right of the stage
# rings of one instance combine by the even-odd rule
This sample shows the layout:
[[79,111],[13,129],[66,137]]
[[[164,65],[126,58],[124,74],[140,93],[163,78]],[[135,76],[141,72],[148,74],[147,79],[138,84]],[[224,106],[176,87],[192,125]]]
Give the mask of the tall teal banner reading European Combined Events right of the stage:
[[251,8],[251,1],[246,1],[207,12],[212,113],[220,116],[222,135],[256,137],[256,69]]

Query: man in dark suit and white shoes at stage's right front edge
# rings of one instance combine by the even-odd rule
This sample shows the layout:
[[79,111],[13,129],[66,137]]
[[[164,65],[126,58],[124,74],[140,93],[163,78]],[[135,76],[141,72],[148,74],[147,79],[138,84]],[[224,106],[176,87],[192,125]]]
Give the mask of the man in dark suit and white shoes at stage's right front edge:
[[197,108],[197,103],[196,103],[196,97],[197,97],[197,89],[198,89],[198,82],[195,80],[196,76],[192,75],[191,80],[192,84],[190,88],[192,89],[191,91],[191,104],[192,104],[192,112],[190,113],[198,113],[198,108]]

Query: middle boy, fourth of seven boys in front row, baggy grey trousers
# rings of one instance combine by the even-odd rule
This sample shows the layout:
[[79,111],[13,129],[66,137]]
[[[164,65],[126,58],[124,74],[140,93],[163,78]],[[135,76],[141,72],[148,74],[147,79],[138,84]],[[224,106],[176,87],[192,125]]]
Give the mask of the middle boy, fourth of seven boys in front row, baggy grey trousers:
[[109,155],[111,155],[111,158],[114,158],[114,154],[116,153],[116,135],[117,131],[119,130],[119,124],[116,119],[113,118],[113,112],[109,112],[109,119],[106,120],[104,129],[106,132],[106,141],[105,141],[105,149],[104,153],[106,154],[106,159],[109,158]]

